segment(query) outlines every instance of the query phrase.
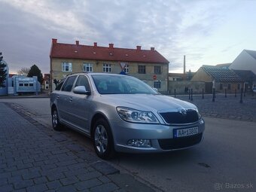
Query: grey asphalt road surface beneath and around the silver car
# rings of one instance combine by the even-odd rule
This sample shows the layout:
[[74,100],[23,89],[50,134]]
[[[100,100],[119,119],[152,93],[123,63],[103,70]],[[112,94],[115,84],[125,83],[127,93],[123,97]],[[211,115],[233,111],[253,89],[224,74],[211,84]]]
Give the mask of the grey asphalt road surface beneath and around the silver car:
[[[49,99],[0,99],[28,109],[51,129]],[[165,154],[119,154],[111,160],[123,172],[163,191],[255,191],[256,123],[205,117],[200,145]],[[75,142],[93,150],[90,139],[66,130]]]

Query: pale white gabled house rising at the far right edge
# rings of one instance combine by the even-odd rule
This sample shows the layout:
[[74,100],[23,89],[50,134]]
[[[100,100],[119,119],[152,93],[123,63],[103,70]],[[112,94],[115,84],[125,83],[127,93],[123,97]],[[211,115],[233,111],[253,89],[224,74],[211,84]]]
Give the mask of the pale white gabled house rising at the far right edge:
[[256,74],[256,51],[242,50],[239,56],[232,62],[229,69],[233,70],[249,70]]

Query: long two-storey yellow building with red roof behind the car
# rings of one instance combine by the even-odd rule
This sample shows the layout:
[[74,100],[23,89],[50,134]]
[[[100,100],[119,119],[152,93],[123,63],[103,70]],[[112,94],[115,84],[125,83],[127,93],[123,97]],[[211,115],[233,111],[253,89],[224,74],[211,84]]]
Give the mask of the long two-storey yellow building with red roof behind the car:
[[53,82],[59,81],[73,72],[107,72],[126,74],[145,81],[162,93],[167,93],[169,61],[154,47],[151,50],[114,47],[99,47],[79,44],[62,44],[52,39],[50,49],[51,91],[55,90]]

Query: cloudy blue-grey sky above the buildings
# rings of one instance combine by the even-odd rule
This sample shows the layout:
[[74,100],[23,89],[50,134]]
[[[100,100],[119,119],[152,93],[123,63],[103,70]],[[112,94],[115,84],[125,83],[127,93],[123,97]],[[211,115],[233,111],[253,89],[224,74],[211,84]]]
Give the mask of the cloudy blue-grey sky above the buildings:
[[0,0],[0,52],[10,72],[37,65],[50,72],[58,42],[155,47],[170,72],[233,62],[256,50],[254,0]]

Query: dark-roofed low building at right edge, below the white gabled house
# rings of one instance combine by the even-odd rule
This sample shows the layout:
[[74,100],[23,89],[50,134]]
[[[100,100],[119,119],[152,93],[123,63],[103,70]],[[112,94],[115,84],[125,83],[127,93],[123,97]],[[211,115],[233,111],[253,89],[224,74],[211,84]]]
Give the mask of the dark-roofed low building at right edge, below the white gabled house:
[[233,70],[244,81],[245,92],[252,91],[256,87],[256,75],[248,70]]

